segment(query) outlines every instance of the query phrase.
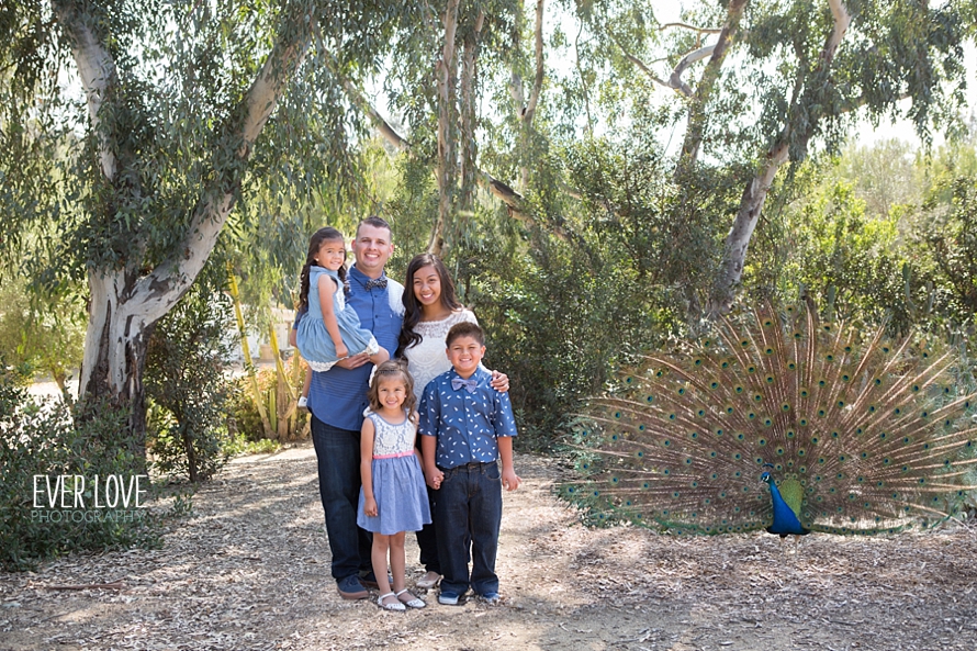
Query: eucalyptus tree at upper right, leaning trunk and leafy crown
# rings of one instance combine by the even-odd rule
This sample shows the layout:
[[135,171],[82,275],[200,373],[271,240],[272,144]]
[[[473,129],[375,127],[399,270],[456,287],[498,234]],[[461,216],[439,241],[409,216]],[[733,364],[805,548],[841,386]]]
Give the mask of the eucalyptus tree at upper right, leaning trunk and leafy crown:
[[[714,315],[742,281],[779,170],[812,148],[838,147],[860,119],[907,116],[928,139],[933,128],[954,127],[964,101],[963,47],[974,24],[967,0],[696,2],[673,23],[655,19],[655,3],[576,7],[592,38],[603,36],[593,52],[625,96],[641,77],[672,94],[663,104],[684,108],[673,122],[684,132],[676,181],[694,188],[717,167],[740,178],[708,289]],[[676,220],[687,218],[686,203],[677,203]]]

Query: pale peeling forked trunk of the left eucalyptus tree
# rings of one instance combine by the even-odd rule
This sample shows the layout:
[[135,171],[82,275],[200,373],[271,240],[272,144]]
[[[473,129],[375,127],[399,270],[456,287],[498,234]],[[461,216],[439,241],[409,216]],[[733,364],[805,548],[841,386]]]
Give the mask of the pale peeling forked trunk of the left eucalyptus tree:
[[[116,179],[120,161],[113,148],[122,134],[115,133],[115,125],[103,119],[103,105],[111,101],[119,82],[115,63],[74,2],[55,2],[54,10],[71,41],[89,117],[98,134],[102,182],[114,192],[125,192],[126,188]],[[222,144],[238,153],[237,160],[228,169],[214,170],[213,180],[202,189],[193,209],[187,234],[170,257],[145,274],[138,269],[138,259],[124,268],[97,268],[88,274],[90,307],[81,397],[105,396],[119,406],[130,407],[130,427],[137,445],[143,444],[145,435],[143,369],[149,334],[187,292],[214,248],[235,204],[254,143],[274,110],[288,77],[305,55],[312,24],[305,18],[292,16],[292,29],[283,31],[291,35],[291,41],[272,48],[236,113],[240,117],[225,130],[227,135]],[[142,250],[142,244],[134,243],[133,249]]]

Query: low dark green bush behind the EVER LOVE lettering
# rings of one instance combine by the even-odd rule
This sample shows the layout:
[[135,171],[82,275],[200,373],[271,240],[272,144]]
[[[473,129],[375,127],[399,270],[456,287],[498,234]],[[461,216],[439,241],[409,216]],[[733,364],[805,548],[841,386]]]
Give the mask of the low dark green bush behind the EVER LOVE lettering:
[[[148,508],[69,508],[46,502],[46,482],[59,475],[91,485],[145,472],[138,450],[124,436],[127,414],[103,403],[70,407],[63,401],[35,403],[9,370],[0,369],[0,568],[25,570],[38,560],[80,550],[104,550],[159,541],[162,514]],[[35,478],[40,478],[35,481]],[[142,487],[148,489],[147,476]],[[42,491],[34,508],[34,491]],[[147,496],[143,496],[143,504]],[[104,497],[103,497],[104,501]],[[74,505],[69,496],[69,504]]]

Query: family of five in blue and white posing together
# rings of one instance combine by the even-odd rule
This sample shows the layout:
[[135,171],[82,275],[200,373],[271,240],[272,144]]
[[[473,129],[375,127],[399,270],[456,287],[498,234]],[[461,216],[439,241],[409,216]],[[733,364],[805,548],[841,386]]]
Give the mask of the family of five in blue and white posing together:
[[302,268],[292,335],[310,367],[303,397],[333,577],[344,598],[375,587],[386,610],[423,608],[405,577],[416,531],[427,572],[417,587],[440,584],[445,605],[470,590],[495,604],[502,489],[521,482],[508,378],[482,366],[484,334],[443,262],[414,257],[405,289],[385,273],[393,248],[390,224],[371,216],[349,269],[330,227],[313,234]]

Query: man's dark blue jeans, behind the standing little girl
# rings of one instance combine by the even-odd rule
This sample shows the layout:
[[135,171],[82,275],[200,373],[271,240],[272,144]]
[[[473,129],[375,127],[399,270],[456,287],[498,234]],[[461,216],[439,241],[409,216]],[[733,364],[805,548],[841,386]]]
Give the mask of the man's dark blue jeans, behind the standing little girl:
[[369,531],[356,524],[360,497],[360,433],[312,418],[312,444],[318,460],[318,490],[326,515],[336,581],[370,570]]

